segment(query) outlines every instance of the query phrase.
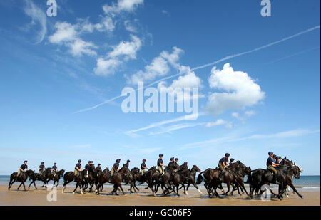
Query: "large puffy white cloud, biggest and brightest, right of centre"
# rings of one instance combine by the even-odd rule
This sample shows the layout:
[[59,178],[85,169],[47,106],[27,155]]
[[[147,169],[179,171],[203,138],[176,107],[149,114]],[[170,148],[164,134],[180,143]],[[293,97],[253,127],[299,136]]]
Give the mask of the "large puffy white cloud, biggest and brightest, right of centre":
[[211,115],[252,106],[265,98],[260,85],[256,84],[247,73],[234,71],[230,63],[225,63],[223,70],[214,67],[208,82],[210,88],[228,91],[209,95],[205,109]]

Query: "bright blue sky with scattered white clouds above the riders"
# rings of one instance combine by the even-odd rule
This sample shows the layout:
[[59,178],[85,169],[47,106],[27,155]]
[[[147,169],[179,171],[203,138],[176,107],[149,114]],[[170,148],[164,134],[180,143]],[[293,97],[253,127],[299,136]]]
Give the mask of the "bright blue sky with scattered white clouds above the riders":
[[[271,150],[320,174],[320,1],[272,1],[270,17],[260,1],[56,2],[56,17],[0,2],[0,174],[159,153],[264,168]],[[138,80],[198,87],[198,119],[123,113]]]

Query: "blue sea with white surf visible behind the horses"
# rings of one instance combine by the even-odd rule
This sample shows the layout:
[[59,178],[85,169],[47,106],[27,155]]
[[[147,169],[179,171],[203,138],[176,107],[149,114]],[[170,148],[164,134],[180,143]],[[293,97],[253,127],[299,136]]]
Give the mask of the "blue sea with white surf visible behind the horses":
[[[245,179],[246,180],[246,179]],[[10,175],[0,175],[0,185],[8,185],[10,181]],[[30,181],[26,181],[26,187],[29,185]],[[27,185],[28,184],[28,185]],[[49,182],[49,184],[53,184],[53,182]],[[63,179],[60,179],[59,186],[62,186]],[[320,176],[301,176],[300,179],[293,179],[293,184],[295,185],[295,188],[297,188],[300,191],[306,190],[306,191],[320,191]],[[14,185],[18,185],[18,183],[15,183]],[[34,184],[33,184],[34,185]],[[33,185],[31,186],[33,188]],[[68,184],[72,185],[72,184]],[[110,185],[110,184],[106,184]],[[36,181],[36,186],[41,187],[42,182]],[[146,184],[141,184],[141,187],[146,186]],[[192,186],[190,186],[192,187]],[[245,187],[247,187],[247,184],[245,184]],[[271,186],[272,187],[277,187]],[[203,184],[200,184],[200,188],[204,188]]]

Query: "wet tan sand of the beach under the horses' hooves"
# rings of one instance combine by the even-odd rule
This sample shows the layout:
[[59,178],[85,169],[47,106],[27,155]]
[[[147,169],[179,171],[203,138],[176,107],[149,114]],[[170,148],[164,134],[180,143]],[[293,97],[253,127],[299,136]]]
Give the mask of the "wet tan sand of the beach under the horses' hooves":
[[[301,191],[304,199],[300,199],[296,194],[290,192],[290,198],[285,198],[282,201],[272,198],[271,201],[261,201],[260,198],[248,199],[246,196],[238,196],[236,193],[233,197],[209,198],[205,194],[205,189],[202,189],[204,194],[195,189],[189,189],[188,195],[180,194],[180,197],[170,194],[163,196],[158,194],[157,197],[153,197],[151,190],[140,189],[137,194],[131,194],[128,192],[128,188],[125,189],[126,196],[120,194],[119,196],[111,195],[111,187],[105,187],[101,195],[93,193],[80,194],[76,192],[73,194],[73,188],[67,187],[64,194],[61,193],[61,187],[57,188],[57,201],[47,201],[47,194],[49,191],[46,189],[29,189],[24,191],[23,187],[17,191],[18,185],[14,186],[9,191],[6,186],[0,185],[0,205],[31,205],[31,206],[87,206],[88,201],[93,206],[320,206],[320,190],[313,192]],[[159,192],[160,193],[160,192]],[[181,191],[180,193],[183,193]]]

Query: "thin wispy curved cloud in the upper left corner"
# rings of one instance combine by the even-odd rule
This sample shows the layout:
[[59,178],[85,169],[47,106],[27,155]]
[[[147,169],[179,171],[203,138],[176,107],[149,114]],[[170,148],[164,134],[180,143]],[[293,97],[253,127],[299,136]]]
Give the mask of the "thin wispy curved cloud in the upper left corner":
[[36,6],[33,1],[26,1],[24,12],[27,16],[31,17],[31,23],[29,24],[29,27],[30,25],[36,25],[36,23],[39,23],[39,25],[41,26],[41,29],[36,38],[36,43],[40,43],[44,40],[44,37],[47,33],[46,14],[38,6]]

